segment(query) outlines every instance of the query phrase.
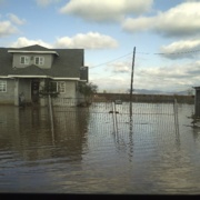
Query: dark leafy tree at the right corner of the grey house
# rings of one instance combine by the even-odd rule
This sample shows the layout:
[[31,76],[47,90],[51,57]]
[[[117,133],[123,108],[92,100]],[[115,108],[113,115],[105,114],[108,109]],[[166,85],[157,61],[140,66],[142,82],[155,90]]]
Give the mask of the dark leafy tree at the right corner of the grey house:
[[98,86],[93,84],[92,82],[80,82],[78,90],[84,97],[84,101],[87,104],[90,104],[92,101],[92,97],[98,91]]

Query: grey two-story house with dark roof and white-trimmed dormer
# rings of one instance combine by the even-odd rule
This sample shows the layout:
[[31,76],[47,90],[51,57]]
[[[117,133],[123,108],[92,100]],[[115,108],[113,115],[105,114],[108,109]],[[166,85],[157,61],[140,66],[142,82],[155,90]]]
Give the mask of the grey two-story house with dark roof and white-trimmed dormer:
[[60,98],[78,99],[78,84],[88,82],[83,49],[48,49],[41,46],[0,48],[0,104],[26,102],[46,106],[39,91],[49,80]]

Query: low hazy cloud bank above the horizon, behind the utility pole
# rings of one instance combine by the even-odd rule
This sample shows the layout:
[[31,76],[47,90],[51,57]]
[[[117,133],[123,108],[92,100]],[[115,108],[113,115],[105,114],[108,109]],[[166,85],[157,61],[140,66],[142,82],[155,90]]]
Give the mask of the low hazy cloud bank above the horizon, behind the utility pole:
[[[127,61],[124,61],[124,67]],[[123,69],[121,63],[119,69]],[[130,67],[129,67],[130,68]],[[94,71],[92,71],[94,72]],[[108,74],[108,73],[107,73]],[[90,80],[99,86],[100,90],[121,90],[126,92],[130,88],[131,73],[112,71],[111,76],[90,76]],[[122,76],[123,74],[123,76]],[[102,76],[102,74],[101,74]],[[148,67],[134,71],[134,89],[181,91],[199,86],[200,61],[183,64],[171,64],[167,67]]]

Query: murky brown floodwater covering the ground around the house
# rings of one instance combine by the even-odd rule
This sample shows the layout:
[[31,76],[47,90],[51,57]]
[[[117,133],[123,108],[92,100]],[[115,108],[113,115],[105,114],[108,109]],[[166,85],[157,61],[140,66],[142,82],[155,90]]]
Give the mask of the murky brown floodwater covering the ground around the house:
[[179,132],[171,110],[143,108],[133,118],[120,106],[117,118],[107,106],[54,109],[52,131],[47,108],[1,106],[0,192],[200,193],[193,106],[178,106]]

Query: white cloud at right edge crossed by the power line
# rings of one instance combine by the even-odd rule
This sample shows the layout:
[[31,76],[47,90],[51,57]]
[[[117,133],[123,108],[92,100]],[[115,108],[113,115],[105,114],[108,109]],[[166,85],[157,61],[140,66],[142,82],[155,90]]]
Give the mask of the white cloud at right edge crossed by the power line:
[[160,52],[169,59],[193,58],[200,52],[200,40],[180,40],[161,47]]

